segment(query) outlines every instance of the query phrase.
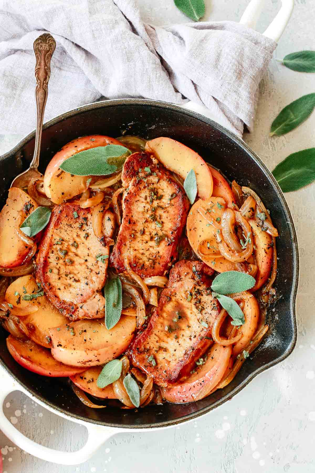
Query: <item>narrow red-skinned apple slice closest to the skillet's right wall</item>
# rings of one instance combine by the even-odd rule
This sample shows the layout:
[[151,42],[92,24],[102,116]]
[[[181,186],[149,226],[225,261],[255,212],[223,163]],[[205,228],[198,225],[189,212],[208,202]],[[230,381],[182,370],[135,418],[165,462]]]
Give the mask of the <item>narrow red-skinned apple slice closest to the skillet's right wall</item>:
[[254,256],[257,265],[256,284],[251,289],[252,292],[255,292],[263,286],[270,276],[273,259],[272,236],[264,232],[255,219],[248,220],[248,223],[253,231]]

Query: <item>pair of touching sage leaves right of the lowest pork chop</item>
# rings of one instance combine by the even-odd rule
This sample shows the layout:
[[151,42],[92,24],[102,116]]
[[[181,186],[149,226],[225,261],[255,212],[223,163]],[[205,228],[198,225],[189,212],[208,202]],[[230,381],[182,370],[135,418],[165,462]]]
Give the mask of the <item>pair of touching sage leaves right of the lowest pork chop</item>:
[[223,309],[232,317],[232,325],[244,324],[245,317],[238,303],[225,294],[234,294],[252,289],[255,282],[253,276],[239,271],[221,272],[214,278],[211,285],[213,297],[218,299]]

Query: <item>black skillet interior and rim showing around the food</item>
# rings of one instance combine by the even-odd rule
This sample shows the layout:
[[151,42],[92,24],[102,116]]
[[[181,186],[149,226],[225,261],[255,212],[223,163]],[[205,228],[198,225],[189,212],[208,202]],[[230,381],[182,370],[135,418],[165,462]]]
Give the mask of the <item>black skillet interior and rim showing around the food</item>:
[[[239,184],[251,187],[262,198],[280,234],[277,238],[279,269],[275,288],[281,298],[274,311],[272,308],[268,311],[268,333],[238,375],[224,389],[196,403],[165,403],[137,411],[90,409],[77,399],[64,379],[42,377],[21,368],[6,348],[7,333],[2,328],[0,359],[2,365],[26,390],[66,415],[110,427],[166,427],[193,419],[224,403],[258,373],[279,363],[291,353],[297,338],[295,298],[298,288],[298,243],[288,205],[263,162],[242,140],[218,123],[176,105],[151,100],[108,100],[60,115],[43,127],[40,171],[43,173],[51,157],[74,138],[97,133],[117,137],[125,132],[146,139],[168,136],[179,140],[220,168],[229,179],[235,178]],[[33,151],[34,132],[0,157],[0,175],[3,176],[1,208],[13,177],[28,167]]]

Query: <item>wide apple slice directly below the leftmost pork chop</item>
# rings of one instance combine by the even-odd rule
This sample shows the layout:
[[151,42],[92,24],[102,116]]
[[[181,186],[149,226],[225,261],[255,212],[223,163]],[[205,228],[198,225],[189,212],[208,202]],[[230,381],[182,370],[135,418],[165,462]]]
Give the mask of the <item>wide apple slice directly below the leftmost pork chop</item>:
[[107,330],[104,319],[79,320],[49,331],[51,353],[71,366],[103,365],[127,349],[135,330],[136,317],[128,315],[121,315],[111,330]]

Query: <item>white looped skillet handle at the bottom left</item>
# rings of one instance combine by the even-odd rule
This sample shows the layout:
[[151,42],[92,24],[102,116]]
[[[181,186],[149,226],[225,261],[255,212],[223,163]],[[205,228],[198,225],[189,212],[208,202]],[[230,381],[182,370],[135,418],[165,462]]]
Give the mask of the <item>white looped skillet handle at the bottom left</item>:
[[[21,389],[13,378],[1,370],[0,373],[1,390],[0,390],[0,429],[17,447],[22,448],[27,453],[37,456],[47,462],[58,463],[61,465],[76,465],[83,463],[101,447],[101,445],[118,433],[119,429],[112,429],[110,427],[95,426],[89,423],[84,423],[88,430],[88,439],[84,447],[77,452],[62,452],[52,448],[43,447],[33,440],[30,440],[21,432],[19,432],[11,422],[6,418],[3,412],[3,403],[8,394],[13,391],[25,391]],[[26,393],[27,394],[27,393]]]

